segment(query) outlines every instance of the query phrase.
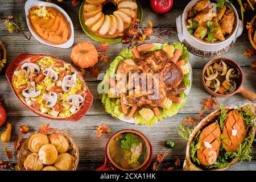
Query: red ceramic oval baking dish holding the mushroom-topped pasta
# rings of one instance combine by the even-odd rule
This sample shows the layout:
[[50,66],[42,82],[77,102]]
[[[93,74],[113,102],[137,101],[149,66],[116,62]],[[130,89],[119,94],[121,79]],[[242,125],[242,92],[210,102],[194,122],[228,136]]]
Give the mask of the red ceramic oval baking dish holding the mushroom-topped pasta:
[[[80,78],[80,80],[83,82],[84,84],[84,89],[86,89],[86,96],[84,98],[84,102],[81,104],[80,109],[77,110],[74,114],[71,115],[71,117],[68,118],[63,118],[63,117],[53,117],[51,115],[48,114],[44,114],[40,111],[36,111],[35,109],[33,109],[31,106],[27,105],[26,102],[24,100],[22,100],[18,94],[15,92],[14,86],[13,86],[13,74],[14,71],[16,70],[16,68],[18,67],[19,63],[21,63],[22,61],[33,57],[33,56],[49,56],[49,55],[32,55],[32,54],[27,54],[27,53],[21,53],[20,55],[16,56],[14,58],[14,60],[11,62],[11,64],[9,65],[9,67],[6,70],[6,77],[11,85],[11,89],[13,90],[15,96],[18,98],[18,100],[25,106],[27,107],[28,110],[31,110],[33,113],[39,115],[40,117],[44,117],[47,119],[52,119],[52,120],[57,120],[57,121],[79,121],[79,119],[81,119],[82,117],[84,117],[84,115],[87,113],[87,111],[90,109],[90,106],[92,105],[93,102],[93,96],[92,93],[90,93],[86,82],[84,80],[84,78],[82,78],[79,74],[79,72],[73,68],[71,66],[71,69],[77,74],[77,76]],[[53,57],[53,59],[56,59],[58,61],[63,62],[64,64],[67,64],[65,61],[54,57],[54,56],[49,56],[49,57]]]

